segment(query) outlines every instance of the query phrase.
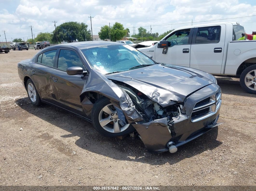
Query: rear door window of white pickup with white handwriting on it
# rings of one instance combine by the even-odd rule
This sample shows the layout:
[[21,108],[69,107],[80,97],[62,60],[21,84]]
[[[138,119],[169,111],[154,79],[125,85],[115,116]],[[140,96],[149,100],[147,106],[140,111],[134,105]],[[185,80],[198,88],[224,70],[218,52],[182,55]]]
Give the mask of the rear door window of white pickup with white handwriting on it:
[[200,27],[197,30],[196,44],[218,43],[220,41],[220,26]]

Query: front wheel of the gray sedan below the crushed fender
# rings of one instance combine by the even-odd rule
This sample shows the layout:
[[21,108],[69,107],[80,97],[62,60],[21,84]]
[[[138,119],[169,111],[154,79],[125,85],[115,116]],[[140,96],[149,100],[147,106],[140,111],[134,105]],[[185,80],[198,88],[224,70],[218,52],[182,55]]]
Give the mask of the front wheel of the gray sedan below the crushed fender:
[[[103,108],[106,108],[104,110],[108,111],[108,113],[103,111]],[[111,116],[111,112],[113,114],[113,117]],[[109,99],[106,97],[101,97],[95,102],[92,108],[91,116],[92,116],[92,124],[94,128],[100,134],[106,137],[122,136],[135,131],[133,126],[130,124],[126,124],[124,126],[121,126],[119,124],[117,111],[114,109],[113,105],[110,103]],[[107,120],[104,120],[104,119],[107,119]],[[100,120],[101,120],[101,123],[100,123]],[[116,122],[114,122],[115,120]],[[115,124],[115,128],[114,128],[114,124]]]

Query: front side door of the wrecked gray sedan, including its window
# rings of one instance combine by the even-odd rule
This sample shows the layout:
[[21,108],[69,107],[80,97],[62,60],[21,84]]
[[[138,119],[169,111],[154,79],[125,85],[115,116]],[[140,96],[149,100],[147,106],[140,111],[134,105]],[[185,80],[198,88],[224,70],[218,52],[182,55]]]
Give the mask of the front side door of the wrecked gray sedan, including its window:
[[86,70],[75,50],[60,48],[56,67],[52,71],[54,92],[57,97],[58,106],[86,117],[79,96],[88,75],[68,75],[66,72],[67,68],[73,66],[79,66]]

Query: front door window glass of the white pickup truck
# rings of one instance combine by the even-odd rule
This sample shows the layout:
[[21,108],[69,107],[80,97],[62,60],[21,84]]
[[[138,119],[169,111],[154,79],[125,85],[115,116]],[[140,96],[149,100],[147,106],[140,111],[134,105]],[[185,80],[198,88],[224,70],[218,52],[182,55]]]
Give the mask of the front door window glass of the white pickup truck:
[[167,36],[165,40],[168,41],[168,47],[188,44],[189,32],[190,29],[183,29]]

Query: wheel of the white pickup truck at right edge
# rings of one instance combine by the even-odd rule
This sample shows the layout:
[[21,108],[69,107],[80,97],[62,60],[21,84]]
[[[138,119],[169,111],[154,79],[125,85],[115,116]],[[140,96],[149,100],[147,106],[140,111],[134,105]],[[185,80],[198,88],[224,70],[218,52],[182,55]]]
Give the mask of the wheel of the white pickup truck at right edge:
[[240,76],[240,84],[244,91],[256,94],[256,64],[244,69]]

